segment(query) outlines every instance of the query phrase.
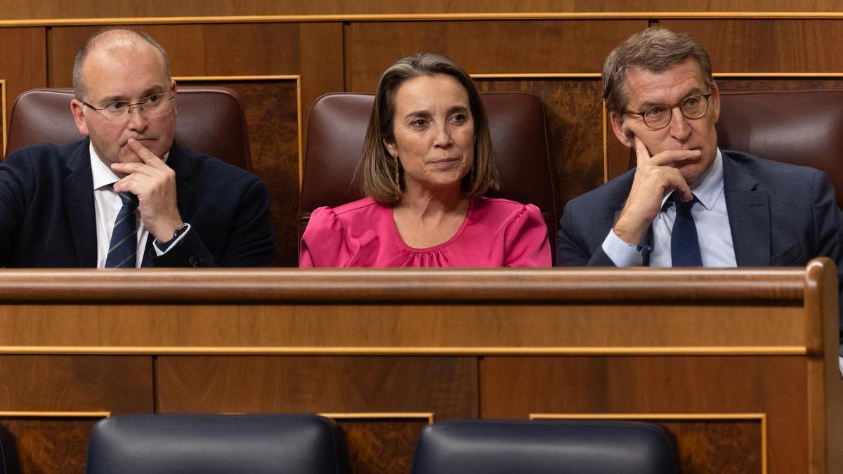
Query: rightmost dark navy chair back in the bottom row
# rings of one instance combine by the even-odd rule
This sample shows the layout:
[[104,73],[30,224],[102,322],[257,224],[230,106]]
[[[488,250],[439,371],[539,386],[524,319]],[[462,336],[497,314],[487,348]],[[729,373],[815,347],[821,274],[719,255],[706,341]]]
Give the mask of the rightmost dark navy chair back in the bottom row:
[[413,474],[678,474],[673,436],[627,422],[471,420],[424,428]]

